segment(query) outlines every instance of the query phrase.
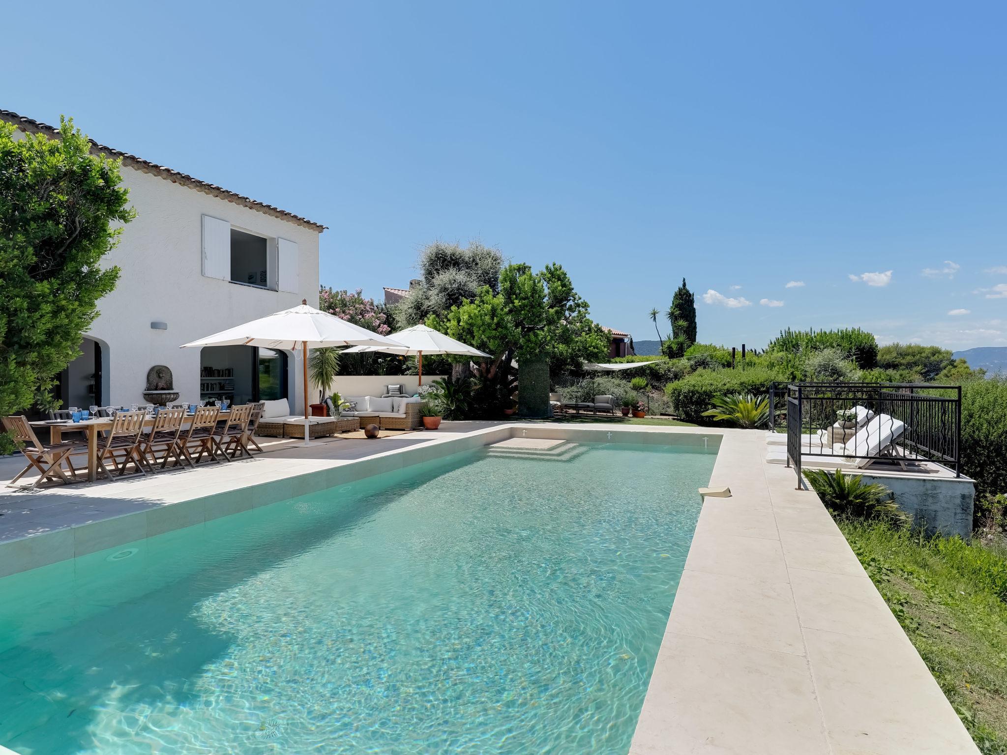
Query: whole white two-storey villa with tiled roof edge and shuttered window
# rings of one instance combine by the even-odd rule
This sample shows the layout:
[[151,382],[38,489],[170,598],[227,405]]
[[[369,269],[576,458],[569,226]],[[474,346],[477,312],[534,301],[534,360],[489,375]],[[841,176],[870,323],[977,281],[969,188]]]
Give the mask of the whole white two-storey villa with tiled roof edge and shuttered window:
[[[0,110],[26,133],[58,130]],[[318,305],[318,236],[324,225],[134,155],[123,184],[137,210],[107,258],[122,269],[115,291],[60,379],[63,407],[146,403],[147,371],[168,366],[180,401],[288,398],[300,406],[300,356],[253,346],[179,348],[293,307]]]

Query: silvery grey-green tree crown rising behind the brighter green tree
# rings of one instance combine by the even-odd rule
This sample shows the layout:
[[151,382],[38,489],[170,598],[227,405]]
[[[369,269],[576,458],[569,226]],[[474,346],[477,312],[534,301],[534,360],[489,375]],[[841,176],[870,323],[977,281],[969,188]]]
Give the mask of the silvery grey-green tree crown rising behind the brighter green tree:
[[479,242],[469,242],[464,249],[443,242],[428,245],[420,253],[419,285],[395,306],[397,320],[403,327],[417,325],[474,300],[483,286],[498,293],[502,264],[498,250]]

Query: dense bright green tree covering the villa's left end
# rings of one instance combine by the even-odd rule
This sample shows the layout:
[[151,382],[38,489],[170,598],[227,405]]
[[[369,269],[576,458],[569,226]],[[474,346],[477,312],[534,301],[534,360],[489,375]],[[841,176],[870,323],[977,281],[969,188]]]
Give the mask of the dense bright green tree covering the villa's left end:
[[73,119],[57,139],[15,131],[0,123],[0,415],[58,406],[57,375],[119,279],[101,265],[113,223],[136,216],[120,161],[93,155]]

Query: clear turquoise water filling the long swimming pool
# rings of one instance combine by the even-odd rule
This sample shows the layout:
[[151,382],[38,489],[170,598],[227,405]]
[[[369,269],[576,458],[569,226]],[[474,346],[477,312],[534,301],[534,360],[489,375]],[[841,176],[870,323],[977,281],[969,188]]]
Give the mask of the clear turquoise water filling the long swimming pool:
[[0,744],[625,753],[715,454],[568,455],[460,454],[0,580]]

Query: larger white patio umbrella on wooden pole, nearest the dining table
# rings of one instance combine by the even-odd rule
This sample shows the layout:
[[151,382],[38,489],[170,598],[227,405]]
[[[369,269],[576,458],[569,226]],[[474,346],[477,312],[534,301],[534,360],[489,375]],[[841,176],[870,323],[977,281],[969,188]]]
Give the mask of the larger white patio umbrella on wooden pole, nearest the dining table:
[[304,357],[304,442],[308,433],[308,349],[327,346],[382,346],[404,348],[399,341],[308,306],[302,299],[297,307],[275,312],[205,338],[183,343],[181,348],[201,346],[261,346],[300,350]]

